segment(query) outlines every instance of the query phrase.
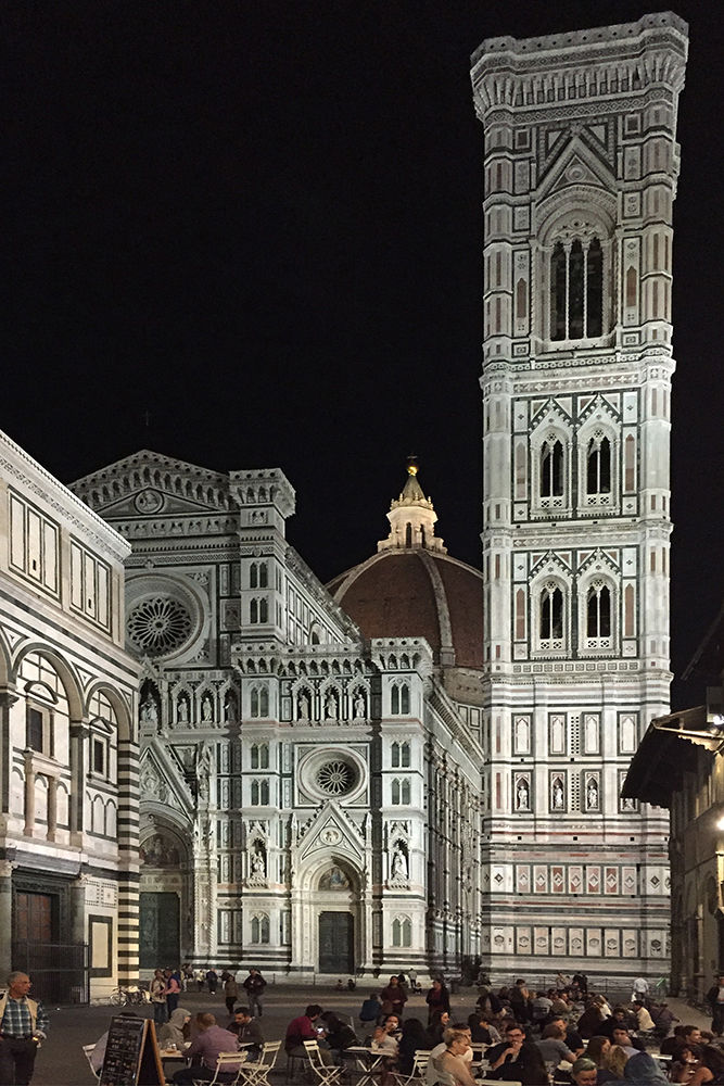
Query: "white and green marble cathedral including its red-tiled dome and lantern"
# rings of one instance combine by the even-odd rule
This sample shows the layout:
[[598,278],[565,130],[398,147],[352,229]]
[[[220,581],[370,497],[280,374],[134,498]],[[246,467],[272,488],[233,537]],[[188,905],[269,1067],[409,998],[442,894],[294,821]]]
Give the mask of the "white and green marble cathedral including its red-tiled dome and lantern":
[[[132,546],[142,970],[427,972],[480,952],[479,681],[460,704],[479,661],[456,643],[478,637],[482,579],[446,556],[410,471],[379,554],[331,586],[346,609],[285,541],[279,469],[141,452],[74,484]],[[408,632],[382,614],[364,635],[350,613],[371,621],[385,581]]]

